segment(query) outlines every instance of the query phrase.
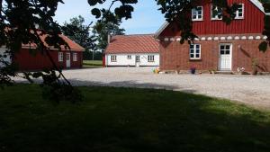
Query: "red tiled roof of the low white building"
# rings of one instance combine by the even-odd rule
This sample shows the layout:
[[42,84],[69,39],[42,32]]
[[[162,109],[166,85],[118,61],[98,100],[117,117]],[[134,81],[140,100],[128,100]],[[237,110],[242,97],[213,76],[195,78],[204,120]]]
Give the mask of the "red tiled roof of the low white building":
[[159,43],[153,34],[116,35],[111,39],[105,53],[158,53]]

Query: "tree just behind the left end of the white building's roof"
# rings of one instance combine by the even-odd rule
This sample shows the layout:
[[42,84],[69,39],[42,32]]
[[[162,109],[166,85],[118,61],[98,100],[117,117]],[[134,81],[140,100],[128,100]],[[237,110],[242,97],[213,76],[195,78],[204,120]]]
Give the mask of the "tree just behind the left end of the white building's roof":
[[[110,11],[108,13],[112,14]],[[117,19],[116,16],[112,15],[114,21],[106,22],[99,21],[96,22],[93,27],[93,33],[96,36],[97,40],[97,49],[102,50],[102,52],[106,49],[108,45],[108,36],[109,35],[124,35],[124,29],[120,28],[121,20]]]

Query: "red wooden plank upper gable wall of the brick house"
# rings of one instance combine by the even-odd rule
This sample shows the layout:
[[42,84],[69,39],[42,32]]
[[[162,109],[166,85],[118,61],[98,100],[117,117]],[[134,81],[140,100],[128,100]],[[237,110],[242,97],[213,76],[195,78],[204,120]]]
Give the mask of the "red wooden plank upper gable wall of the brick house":
[[[203,5],[203,21],[193,22],[193,32],[197,35],[228,33],[262,33],[264,29],[264,13],[249,0],[228,0],[229,4],[244,4],[244,19],[234,20],[229,25],[222,21],[211,21],[211,4]],[[180,36],[177,25],[171,23],[160,37]]]

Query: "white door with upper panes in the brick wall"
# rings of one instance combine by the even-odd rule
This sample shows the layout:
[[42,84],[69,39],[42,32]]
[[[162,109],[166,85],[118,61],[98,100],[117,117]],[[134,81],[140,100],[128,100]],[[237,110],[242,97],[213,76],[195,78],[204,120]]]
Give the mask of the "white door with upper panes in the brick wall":
[[231,44],[220,44],[220,70],[230,71],[231,70],[231,59],[232,57],[232,45]]

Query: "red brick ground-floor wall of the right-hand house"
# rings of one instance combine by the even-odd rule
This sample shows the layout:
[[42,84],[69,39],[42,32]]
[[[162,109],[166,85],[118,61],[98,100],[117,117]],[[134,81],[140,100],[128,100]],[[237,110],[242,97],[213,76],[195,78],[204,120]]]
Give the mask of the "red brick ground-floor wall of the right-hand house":
[[262,40],[197,40],[201,44],[201,60],[190,60],[189,44],[179,41],[160,41],[160,69],[161,70],[198,70],[217,69],[219,67],[220,43],[232,44],[232,71],[238,67],[245,67],[252,71],[252,58],[258,58],[259,71],[270,71],[270,49],[266,53],[260,52],[258,46]]

